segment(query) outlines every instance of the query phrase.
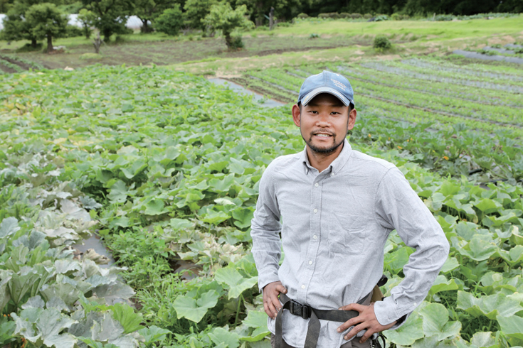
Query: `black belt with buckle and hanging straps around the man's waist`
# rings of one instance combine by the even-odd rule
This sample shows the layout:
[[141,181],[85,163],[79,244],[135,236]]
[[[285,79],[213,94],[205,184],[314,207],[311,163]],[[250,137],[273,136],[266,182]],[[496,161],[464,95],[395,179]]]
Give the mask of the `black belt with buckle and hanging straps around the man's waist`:
[[[358,301],[359,305],[365,303],[365,300],[369,298],[366,295],[364,298]],[[280,301],[282,302],[282,308],[276,315],[276,335],[275,335],[275,348],[283,347],[283,335],[282,335],[282,314],[283,310],[289,310],[290,314],[297,315],[303,319],[309,319],[309,327],[307,329],[307,336],[305,337],[304,348],[316,348],[319,338],[319,320],[330,320],[333,322],[346,322],[347,320],[357,317],[359,312],[356,310],[317,310],[312,308],[310,305],[302,305],[301,303],[291,300],[284,293],[280,293]],[[383,337],[382,337],[383,339]],[[379,343],[378,343],[379,344]],[[384,345],[385,347],[385,345]]]

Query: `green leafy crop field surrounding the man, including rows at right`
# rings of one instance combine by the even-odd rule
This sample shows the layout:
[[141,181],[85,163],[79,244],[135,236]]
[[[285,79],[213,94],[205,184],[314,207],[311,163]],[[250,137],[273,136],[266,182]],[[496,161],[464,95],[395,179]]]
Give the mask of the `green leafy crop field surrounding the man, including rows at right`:
[[[292,101],[324,67],[354,81],[353,146],[401,168],[451,245],[389,347],[523,346],[522,71],[423,58],[241,82]],[[0,78],[0,344],[270,347],[249,227],[264,168],[304,146],[288,107],[158,67]],[[92,232],[122,268],[73,259]],[[393,233],[385,252],[388,295],[412,250]]]

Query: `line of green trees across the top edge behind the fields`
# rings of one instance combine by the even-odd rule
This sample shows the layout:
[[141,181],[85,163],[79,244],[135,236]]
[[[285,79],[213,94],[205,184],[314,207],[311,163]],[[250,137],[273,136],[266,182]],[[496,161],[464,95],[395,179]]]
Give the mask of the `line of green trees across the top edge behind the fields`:
[[[177,35],[181,28],[201,30],[212,35],[221,30],[229,48],[241,45],[233,38],[234,28],[261,26],[268,13],[278,21],[288,21],[299,14],[320,13],[401,13],[409,16],[428,14],[473,15],[488,12],[523,12],[522,0],[0,0],[0,12],[6,13],[4,40],[47,39],[65,36],[67,17],[64,12],[78,13],[83,34],[89,38],[91,28],[107,42],[113,34],[127,33],[128,16],[142,21],[142,32],[163,31]],[[250,18],[249,21],[247,18]],[[79,30],[79,29],[77,29]]]

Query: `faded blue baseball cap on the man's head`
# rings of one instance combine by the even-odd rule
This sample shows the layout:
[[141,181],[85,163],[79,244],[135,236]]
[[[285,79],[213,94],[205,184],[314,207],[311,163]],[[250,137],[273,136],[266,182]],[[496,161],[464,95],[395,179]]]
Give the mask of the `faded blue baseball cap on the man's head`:
[[297,104],[307,105],[312,98],[320,93],[334,95],[334,97],[341,100],[346,107],[348,107],[349,104],[354,105],[354,91],[347,77],[327,70],[323,70],[323,72],[305,79],[305,82],[303,82],[300,88]]

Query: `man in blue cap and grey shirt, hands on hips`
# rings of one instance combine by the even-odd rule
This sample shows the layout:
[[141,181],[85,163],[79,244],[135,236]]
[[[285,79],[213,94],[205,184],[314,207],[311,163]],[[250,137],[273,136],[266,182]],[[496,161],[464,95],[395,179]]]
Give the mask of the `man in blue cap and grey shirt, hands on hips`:
[[[305,150],[276,158],[260,180],[251,235],[273,347],[371,347],[423,301],[448,256],[401,171],[352,150],[353,98],[341,75],[308,77],[292,107]],[[371,303],[393,229],[416,251],[391,296]]]

